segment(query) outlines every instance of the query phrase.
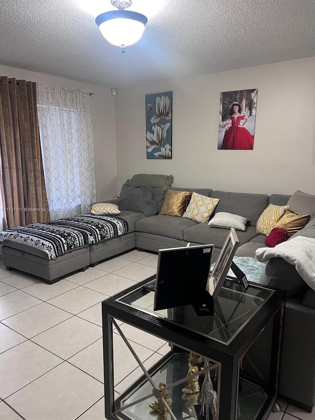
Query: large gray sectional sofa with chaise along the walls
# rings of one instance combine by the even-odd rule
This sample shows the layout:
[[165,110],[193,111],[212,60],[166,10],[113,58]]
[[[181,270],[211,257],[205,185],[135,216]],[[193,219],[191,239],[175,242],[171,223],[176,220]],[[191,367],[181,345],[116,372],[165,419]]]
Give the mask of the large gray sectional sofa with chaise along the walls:
[[[237,231],[240,240],[237,255],[244,257],[254,257],[255,250],[265,246],[265,236],[258,235],[255,227],[264,209],[269,203],[284,205],[290,198],[289,195],[282,194],[268,196],[267,194],[214,191],[210,188],[173,188],[170,187],[172,181],[172,176],[138,174],[123,185],[120,197],[126,198],[132,183],[150,185],[151,200],[155,202],[157,213],[162,207],[164,196],[169,188],[194,191],[220,198],[214,214],[227,212],[238,214],[248,220],[245,231]],[[53,282],[56,277],[60,278],[87,265],[95,266],[103,259],[117,256],[134,248],[158,252],[161,248],[186,246],[188,242],[191,245],[213,243],[215,245],[213,260],[218,257],[228,232],[227,229],[209,227],[207,223],[198,224],[193,220],[177,216],[160,214],[146,216],[139,211],[144,208],[143,203],[129,201],[131,208],[128,209],[126,208],[128,201],[121,198],[107,199],[103,202],[121,203],[120,208],[125,208],[121,210],[119,217],[128,223],[129,230],[126,235],[71,251],[53,261],[48,260],[43,254],[36,254],[30,249],[31,247],[17,246],[18,244],[4,241],[2,245],[4,264]],[[314,238],[315,218],[298,234]],[[282,258],[270,260],[258,282],[287,291],[279,393],[290,398],[295,405],[310,411],[315,406],[315,292],[307,287],[297,274],[295,267]]]

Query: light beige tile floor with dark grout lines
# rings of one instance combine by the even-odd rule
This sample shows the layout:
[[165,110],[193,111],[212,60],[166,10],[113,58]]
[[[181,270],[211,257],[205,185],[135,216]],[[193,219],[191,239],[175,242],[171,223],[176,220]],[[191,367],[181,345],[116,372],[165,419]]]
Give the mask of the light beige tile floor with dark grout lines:
[[[0,265],[0,419],[104,420],[100,302],[155,274],[157,263],[131,251],[54,285]],[[163,340],[118,325],[145,367],[168,352]],[[140,368],[117,333],[114,354],[118,395]],[[280,403],[269,420],[315,420]]]

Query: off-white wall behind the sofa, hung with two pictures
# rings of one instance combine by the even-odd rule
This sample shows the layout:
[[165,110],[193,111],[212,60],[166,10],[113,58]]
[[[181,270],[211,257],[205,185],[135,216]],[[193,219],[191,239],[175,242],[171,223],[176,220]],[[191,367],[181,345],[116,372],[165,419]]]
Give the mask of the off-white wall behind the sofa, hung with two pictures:
[[[253,88],[253,150],[217,150],[220,92]],[[166,91],[173,159],[147,160],[145,94]],[[315,194],[315,58],[119,89],[116,144],[118,191],[135,173],[163,173],[174,186]]]

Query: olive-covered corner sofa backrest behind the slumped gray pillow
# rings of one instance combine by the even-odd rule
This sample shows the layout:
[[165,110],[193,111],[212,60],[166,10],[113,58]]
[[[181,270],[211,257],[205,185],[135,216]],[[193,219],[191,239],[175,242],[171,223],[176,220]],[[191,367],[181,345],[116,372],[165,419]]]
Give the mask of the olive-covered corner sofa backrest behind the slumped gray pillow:
[[125,184],[122,186],[119,196],[123,198],[126,195],[131,182],[149,185],[152,188],[153,201],[156,203],[157,211],[159,213],[163,205],[166,191],[172,185],[173,181],[173,175],[138,173],[133,175],[131,179],[126,180]]

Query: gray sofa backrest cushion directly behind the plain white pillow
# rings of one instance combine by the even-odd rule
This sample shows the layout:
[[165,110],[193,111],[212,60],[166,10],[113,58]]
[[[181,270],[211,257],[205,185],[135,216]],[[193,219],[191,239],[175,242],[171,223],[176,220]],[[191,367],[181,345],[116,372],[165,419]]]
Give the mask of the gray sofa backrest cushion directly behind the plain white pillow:
[[229,193],[227,191],[213,191],[212,197],[220,198],[213,215],[218,212],[238,214],[246,217],[249,226],[256,226],[261,213],[268,206],[269,195],[251,193]]

